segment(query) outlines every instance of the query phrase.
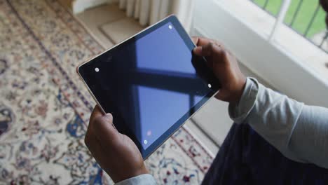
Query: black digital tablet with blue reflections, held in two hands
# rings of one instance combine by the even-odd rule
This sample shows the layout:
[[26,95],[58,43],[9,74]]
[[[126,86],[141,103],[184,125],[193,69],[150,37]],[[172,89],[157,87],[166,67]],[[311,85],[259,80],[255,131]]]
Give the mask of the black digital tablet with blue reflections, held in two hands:
[[219,89],[174,15],[77,67],[114,126],[146,159]]

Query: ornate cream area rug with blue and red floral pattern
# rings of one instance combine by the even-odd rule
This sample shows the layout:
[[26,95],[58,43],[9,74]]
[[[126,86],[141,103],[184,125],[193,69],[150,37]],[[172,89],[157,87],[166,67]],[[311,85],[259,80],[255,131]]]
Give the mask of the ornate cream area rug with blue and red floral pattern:
[[[102,50],[57,1],[0,1],[0,184],[112,184],[83,143],[95,103],[76,75]],[[182,128],[146,165],[200,184],[211,162]]]

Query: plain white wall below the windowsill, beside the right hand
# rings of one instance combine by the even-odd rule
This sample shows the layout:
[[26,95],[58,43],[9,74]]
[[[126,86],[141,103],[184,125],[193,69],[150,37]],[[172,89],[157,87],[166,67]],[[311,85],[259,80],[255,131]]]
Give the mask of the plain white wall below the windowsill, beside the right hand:
[[273,87],[306,104],[328,107],[328,83],[278,44],[252,30],[217,0],[197,0],[194,29],[224,45]]

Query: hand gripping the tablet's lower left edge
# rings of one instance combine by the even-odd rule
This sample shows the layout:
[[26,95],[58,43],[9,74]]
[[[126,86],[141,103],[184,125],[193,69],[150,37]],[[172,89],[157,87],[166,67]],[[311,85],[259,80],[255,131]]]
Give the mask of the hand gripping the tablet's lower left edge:
[[111,114],[102,115],[97,106],[93,109],[85,142],[97,163],[115,183],[148,173],[135,143],[112,123]]

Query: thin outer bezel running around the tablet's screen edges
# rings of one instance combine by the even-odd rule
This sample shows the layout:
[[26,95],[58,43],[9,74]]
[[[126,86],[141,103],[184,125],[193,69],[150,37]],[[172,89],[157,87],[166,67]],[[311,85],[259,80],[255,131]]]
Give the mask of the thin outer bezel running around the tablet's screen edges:
[[[132,43],[134,41],[137,41],[138,39],[141,39],[143,36],[146,36],[147,34],[153,32],[154,30],[156,30],[159,27],[167,24],[168,22],[172,23],[172,25],[175,27],[175,29],[179,33],[179,36],[181,36],[181,38],[184,41],[184,43],[186,44],[186,46],[189,48],[189,50],[192,51],[193,48],[195,48],[196,46],[194,45],[194,43],[191,40],[190,36],[186,33],[185,29],[182,27],[182,25],[179,22],[179,20],[177,19],[177,17],[175,17],[175,15],[170,15],[167,18],[164,18],[163,20],[160,20],[155,25],[147,27],[146,29],[144,29],[141,32],[135,34],[134,36],[131,36],[129,39],[126,39],[125,41],[122,41],[121,43],[118,43],[116,46],[114,46],[112,48],[109,48],[108,50],[105,50],[103,53],[100,53],[99,55],[96,55],[95,57],[92,57],[90,60],[88,60],[86,62],[83,62],[82,64],[80,64],[76,68],[76,71],[77,71],[78,75],[80,76],[80,78],[82,79],[83,84],[86,85],[86,88],[88,88],[88,91],[89,91],[90,95],[93,97],[95,102],[102,109],[103,114],[105,113],[104,109],[102,108],[101,104],[97,101],[97,98],[93,94],[92,90],[90,90],[88,84],[86,83],[85,79],[83,78],[83,71],[81,71],[81,68],[83,67],[83,65],[88,63],[88,62],[92,62],[93,60],[95,60],[95,58],[99,57],[100,55],[103,55],[104,53],[108,53],[108,52],[111,52],[113,50],[119,49],[120,47],[123,47],[123,46],[125,46],[129,43]],[[128,135],[132,139],[132,141],[135,142],[135,144],[137,145],[139,151],[142,153],[142,158],[144,158],[144,160],[146,160],[146,158],[148,158],[151,155],[151,153],[153,153],[153,151],[156,151],[156,149],[158,149],[159,146],[161,146],[177,130],[179,130],[179,128],[181,128],[182,125],[184,125],[184,123],[186,123],[186,121],[188,121],[189,118],[191,118],[193,116],[193,114],[196,114],[196,112],[199,111],[201,109],[201,107],[203,107],[208,102],[208,100],[210,100],[212,97],[214,97],[214,95],[216,93],[217,93],[217,90],[211,89],[210,93],[207,93],[207,95],[205,95],[205,97],[203,97],[203,99],[200,100],[200,102],[198,102],[194,107],[189,109],[189,111],[186,114],[184,114],[181,118],[179,118],[179,120],[175,124],[173,124],[166,132],[163,133],[163,135],[161,135],[158,139],[156,139],[156,141],[153,142],[146,149],[142,148],[142,144],[139,143],[139,141],[137,140],[135,135]]]

